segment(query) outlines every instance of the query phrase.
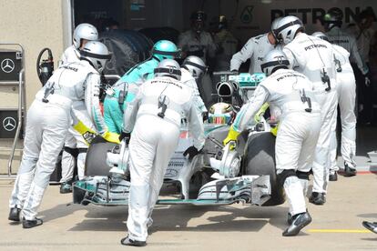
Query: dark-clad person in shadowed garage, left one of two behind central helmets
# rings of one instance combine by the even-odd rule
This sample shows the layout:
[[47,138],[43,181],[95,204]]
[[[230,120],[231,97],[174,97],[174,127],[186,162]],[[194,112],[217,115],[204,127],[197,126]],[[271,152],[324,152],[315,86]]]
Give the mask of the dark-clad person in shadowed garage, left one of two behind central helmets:
[[178,47],[182,50],[182,57],[196,55],[207,62],[208,57],[214,57],[217,46],[212,36],[204,31],[207,15],[202,11],[194,12],[190,16],[191,29],[178,37]]

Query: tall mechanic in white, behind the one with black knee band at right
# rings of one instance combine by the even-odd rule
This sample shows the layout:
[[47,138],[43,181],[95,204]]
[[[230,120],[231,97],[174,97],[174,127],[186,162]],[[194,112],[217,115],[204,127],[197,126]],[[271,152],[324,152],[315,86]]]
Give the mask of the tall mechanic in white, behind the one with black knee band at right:
[[281,18],[273,31],[284,44],[283,52],[292,68],[313,82],[316,99],[321,105],[321,134],[312,166],[314,182],[309,201],[315,205],[326,202],[329,179],[331,130],[336,125],[338,95],[332,45],[321,38],[306,35],[301,20],[293,15]]

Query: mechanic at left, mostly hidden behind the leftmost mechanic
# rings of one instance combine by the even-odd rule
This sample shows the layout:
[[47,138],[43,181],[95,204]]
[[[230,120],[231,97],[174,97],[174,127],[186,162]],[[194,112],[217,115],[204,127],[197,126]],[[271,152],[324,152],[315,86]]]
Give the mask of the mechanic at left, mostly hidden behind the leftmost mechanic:
[[[73,34],[73,45],[66,48],[65,52],[60,58],[59,65],[80,61],[80,50],[88,41],[95,41],[98,39],[98,33],[95,26],[90,24],[80,24],[76,26]],[[88,128],[94,130],[94,125],[91,122],[89,115],[87,115],[87,107],[84,101],[75,101],[73,112]],[[78,153],[77,153],[78,148]],[[74,178],[75,157],[77,156],[77,176],[78,179],[84,177],[85,172],[85,158],[87,156],[87,142],[70,126],[66,134],[66,142],[63,147],[62,154],[62,178],[60,179],[60,193],[66,194],[72,192],[72,182]]]

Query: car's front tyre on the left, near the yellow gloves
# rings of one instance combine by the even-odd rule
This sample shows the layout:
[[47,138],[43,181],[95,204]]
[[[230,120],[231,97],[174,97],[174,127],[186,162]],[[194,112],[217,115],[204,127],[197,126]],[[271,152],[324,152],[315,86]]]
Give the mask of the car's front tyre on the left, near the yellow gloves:
[[108,176],[110,166],[107,166],[107,151],[117,144],[107,142],[103,137],[93,139],[87,149],[85,160],[85,176]]

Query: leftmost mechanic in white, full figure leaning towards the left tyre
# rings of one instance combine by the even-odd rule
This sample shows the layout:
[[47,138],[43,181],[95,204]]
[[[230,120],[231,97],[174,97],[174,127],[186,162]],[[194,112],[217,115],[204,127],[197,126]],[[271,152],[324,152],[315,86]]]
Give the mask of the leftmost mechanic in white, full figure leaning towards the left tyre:
[[37,92],[27,112],[24,154],[9,200],[9,220],[19,221],[22,211],[24,228],[42,225],[42,219],[36,217],[37,209],[64,144],[73,102],[85,100],[97,131],[108,137],[99,109],[98,73],[109,57],[106,45],[88,42],[79,62],[61,65]]

